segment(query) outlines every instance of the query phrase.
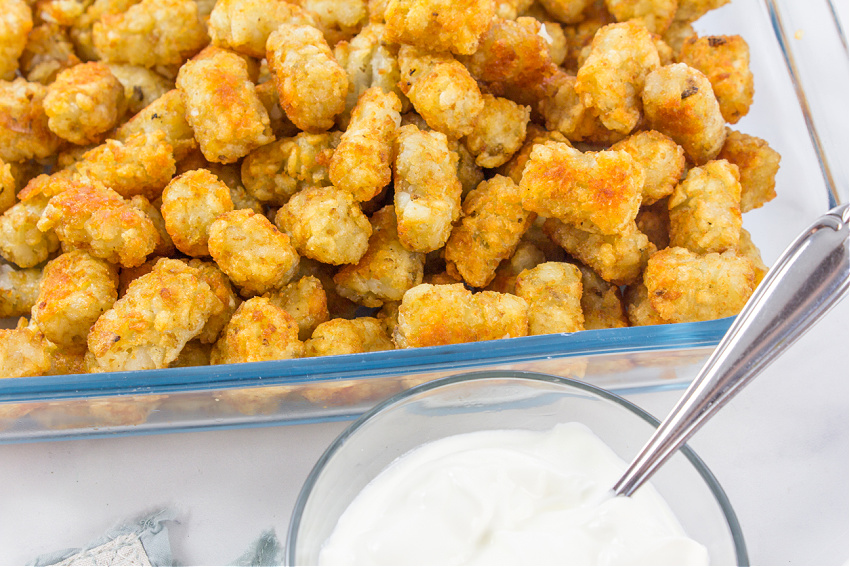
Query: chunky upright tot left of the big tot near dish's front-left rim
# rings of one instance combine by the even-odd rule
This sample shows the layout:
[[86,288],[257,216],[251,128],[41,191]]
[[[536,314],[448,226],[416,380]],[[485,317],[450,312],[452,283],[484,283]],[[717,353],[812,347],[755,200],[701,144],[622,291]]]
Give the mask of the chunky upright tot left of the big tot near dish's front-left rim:
[[116,299],[115,265],[72,250],[44,267],[32,321],[59,347],[85,350],[89,329]]

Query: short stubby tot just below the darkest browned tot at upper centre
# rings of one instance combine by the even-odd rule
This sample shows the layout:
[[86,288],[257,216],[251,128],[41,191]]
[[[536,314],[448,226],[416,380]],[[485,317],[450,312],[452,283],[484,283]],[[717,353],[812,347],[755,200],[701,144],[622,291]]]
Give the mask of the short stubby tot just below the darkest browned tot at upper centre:
[[507,162],[522,146],[531,109],[512,100],[484,95],[484,108],[475,118],[466,148],[480,167],[494,168]]

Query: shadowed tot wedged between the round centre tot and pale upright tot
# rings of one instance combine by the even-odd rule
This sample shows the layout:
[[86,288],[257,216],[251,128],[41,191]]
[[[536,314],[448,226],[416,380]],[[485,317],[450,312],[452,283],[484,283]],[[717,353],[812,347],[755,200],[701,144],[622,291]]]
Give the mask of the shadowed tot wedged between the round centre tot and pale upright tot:
[[334,282],[343,297],[366,307],[380,307],[386,301],[400,301],[404,292],[422,283],[425,255],[402,246],[392,205],[373,214],[370,222],[368,250],[357,264],[343,266]]

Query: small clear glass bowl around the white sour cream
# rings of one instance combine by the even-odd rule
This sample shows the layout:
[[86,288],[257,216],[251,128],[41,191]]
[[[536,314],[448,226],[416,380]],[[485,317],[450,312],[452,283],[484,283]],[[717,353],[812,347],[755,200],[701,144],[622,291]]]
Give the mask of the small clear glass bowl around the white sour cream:
[[[287,534],[288,565],[316,565],[340,515],[375,476],[410,450],[459,433],[588,426],[621,459],[637,454],[659,422],[596,386],[534,372],[457,374],[413,387],[377,405],[327,448],[310,472]],[[685,532],[708,548],[712,565],[748,565],[732,505],[687,446],[652,478]]]

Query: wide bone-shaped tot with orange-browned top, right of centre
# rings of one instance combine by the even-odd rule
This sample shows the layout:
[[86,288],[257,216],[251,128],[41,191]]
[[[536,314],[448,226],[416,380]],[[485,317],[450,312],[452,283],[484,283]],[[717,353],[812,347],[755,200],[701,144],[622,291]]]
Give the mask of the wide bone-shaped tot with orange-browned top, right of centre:
[[640,206],[643,168],[624,151],[534,146],[520,187],[526,210],[601,234],[626,230]]

